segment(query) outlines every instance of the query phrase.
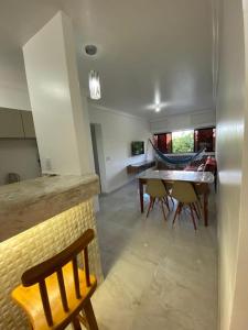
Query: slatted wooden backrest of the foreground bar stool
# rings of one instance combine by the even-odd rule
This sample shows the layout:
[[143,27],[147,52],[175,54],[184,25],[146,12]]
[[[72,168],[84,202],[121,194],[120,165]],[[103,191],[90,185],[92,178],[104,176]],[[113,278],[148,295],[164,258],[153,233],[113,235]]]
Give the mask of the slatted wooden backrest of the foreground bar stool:
[[94,230],[88,229],[73,244],[71,244],[69,246],[67,246],[66,249],[64,249],[62,252],[54,255],[53,257],[28,270],[22,275],[21,279],[22,279],[22,285],[24,287],[29,287],[34,284],[39,284],[45,318],[46,318],[47,324],[50,327],[53,326],[53,317],[52,317],[45,278],[48,277],[50,275],[56,273],[61,299],[62,299],[62,306],[63,306],[64,311],[68,311],[68,302],[67,302],[67,297],[66,297],[65,283],[64,283],[62,267],[64,265],[68,264],[69,262],[72,262],[73,277],[74,277],[74,285],[75,285],[75,295],[76,295],[77,299],[80,299],[82,295],[80,295],[80,288],[79,288],[77,255],[80,252],[83,252],[86,285],[90,286],[87,246],[88,246],[89,242],[93,241],[94,237],[95,237]]

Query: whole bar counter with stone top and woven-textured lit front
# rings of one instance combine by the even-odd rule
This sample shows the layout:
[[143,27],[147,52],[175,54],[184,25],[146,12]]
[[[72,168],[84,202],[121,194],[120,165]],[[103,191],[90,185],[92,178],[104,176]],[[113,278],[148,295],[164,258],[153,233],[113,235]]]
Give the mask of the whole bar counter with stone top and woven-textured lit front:
[[89,245],[90,272],[103,280],[93,196],[96,175],[55,176],[0,188],[0,329],[29,329],[25,316],[11,300],[29,267],[73,243],[85,230],[95,230]]

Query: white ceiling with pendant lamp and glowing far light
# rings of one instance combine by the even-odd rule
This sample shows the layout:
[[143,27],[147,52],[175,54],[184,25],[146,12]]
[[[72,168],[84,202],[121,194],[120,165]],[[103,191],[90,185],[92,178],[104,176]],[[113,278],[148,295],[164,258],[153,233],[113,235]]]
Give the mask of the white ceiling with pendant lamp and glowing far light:
[[73,19],[84,88],[99,70],[100,106],[153,119],[213,109],[211,0],[0,0],[4,84],[26,86],[21,46],[57,10]]

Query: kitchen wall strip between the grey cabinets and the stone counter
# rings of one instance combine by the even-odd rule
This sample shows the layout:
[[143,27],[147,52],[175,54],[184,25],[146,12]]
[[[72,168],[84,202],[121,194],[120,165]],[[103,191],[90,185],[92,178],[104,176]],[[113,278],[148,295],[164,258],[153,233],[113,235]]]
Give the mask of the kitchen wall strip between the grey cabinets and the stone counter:
[[21,180],[40,176],[37,145],[34,139],[0,139],[0,185],[8,173],[18,173]]

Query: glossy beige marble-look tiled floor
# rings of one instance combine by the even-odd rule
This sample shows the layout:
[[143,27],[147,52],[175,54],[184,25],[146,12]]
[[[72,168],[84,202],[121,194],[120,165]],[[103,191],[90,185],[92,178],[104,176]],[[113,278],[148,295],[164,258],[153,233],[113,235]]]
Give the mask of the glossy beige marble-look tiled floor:
[[93,304],[100,330],[216,330],[217,243],[185,212],[172,228],[159,206],[139,211],[137,184],[100,198],[97,217],[106,279]]

